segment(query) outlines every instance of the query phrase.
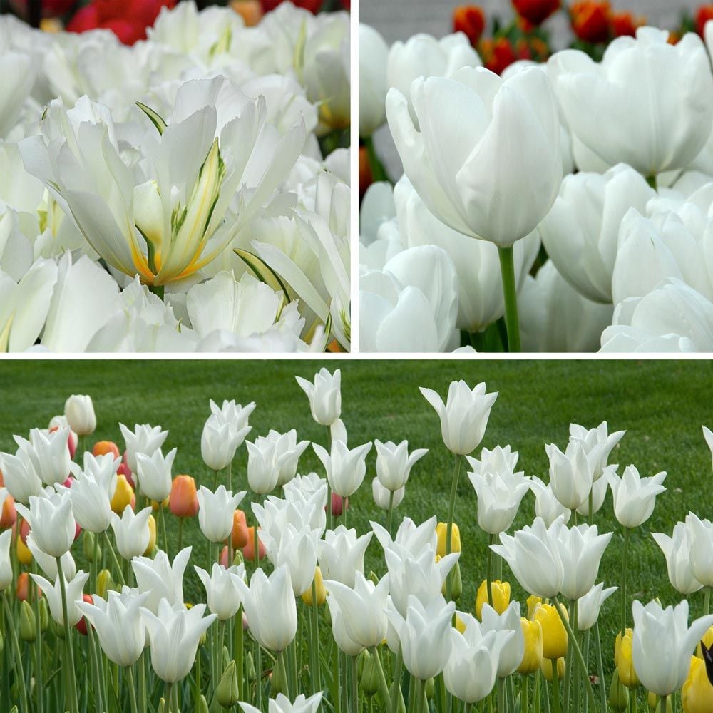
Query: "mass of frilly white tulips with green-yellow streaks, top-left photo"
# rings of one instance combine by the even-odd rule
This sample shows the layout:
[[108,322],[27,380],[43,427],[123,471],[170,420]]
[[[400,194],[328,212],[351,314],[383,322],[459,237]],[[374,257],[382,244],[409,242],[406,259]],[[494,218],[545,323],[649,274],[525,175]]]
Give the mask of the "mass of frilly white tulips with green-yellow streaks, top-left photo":
[[3,16],[0,67],[0,351],[349,349],[349,14]]

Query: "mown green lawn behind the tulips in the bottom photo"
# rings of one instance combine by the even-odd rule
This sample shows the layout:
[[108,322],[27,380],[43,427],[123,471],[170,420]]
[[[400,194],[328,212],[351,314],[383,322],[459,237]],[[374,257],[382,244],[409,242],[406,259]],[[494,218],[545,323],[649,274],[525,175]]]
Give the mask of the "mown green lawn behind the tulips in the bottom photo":
[[[269,429],[296,428],[300,438],[324,443],[324,428],[309,414],[307,398],[294,381],[299,374],[311,378],[324,365],[317,361],[5,361],[0,365],[0,451],[13,451],[13,434],[26,434],[33,426],[46,426],[63,411],[67,396],[91,394],[98,417],[93,440],[113,440],[123,446],[118,423],[160,424],[169,430],[167,448],[178,446],[174,472],[190,473],[200,484],[212,486],[212,471],[200,458],[200,434],[209,414],[208,399],[256,401],[249,438]],[[327,365],[330,368],[335,365]],[[713,496],[712,459],[701,425],[713,421],[707,361],[344,361],[342,369],[342,418],[352,446],[379,438],[409,440],[410,448],[430,452],[414,466],[406,498],[395,520],[408,514],[416,522],[434,513],[444,520],[453,468],[452,456],[441,441],[436,413],[419,394],[430,386],[445,394],[453,379],[471,386],[486,381],[488,391],[499,396],[491,412],[482,446],[510,443],[520,452],[520,468],[526,475],[547,479],[544,444],[561,448],[568,438],[570,421],[593,427],[606,420],[610,430],[627,429],[611,462],[634,463],[642,476],[668,472],[667,492],[657,498],[650,520],[633,535],[630,545],[629,592],[649,601],[679,600],[668,583],[665,560],[650,532],[670,533],[674,523],[689,510],[709,516]],[[350,525],[359,532],[369,520],[384,522],[384,514],[371,499],[375,453],[369,456],[367,480],[353,501]],[[240,448],[234,466],[234,482],[247,489],[247,451]],[[305,452],[299,471],[322,466],[312,449]],[[621,469],[620,469],[621,472]],[[250,524],[251,513],[244,501]],[[531,522],[533,497],[523,501],[515,528]],[[470,610],[476,585],[486,568],[486,535],[476,523],[476,498],[468,478],[458,486],[456,522],[461,528],[463,553],[461,610]],[[611,495],[597,514],[601,531],[615,536],[602,560],[599,580],[618,585],[620,579],[621,528],[612,515]],[[175,553],[177,526],[168,518],[169,540]],[[191,564],[205,566],[205,550],[197,520],[185,530],[186,542],[201,546]],[[367,570],[384,571],[376,540],[369,547]],[[504,575],[509,576],[507,565]],[[514,578],[513,596],[524,602]],[[187,597],[200,595],[190,568]],[[692,595],[692,615],[702,613],[702,593]],[[620,600],[617,594],[602,610],[602,645],[608,662],[613,655]]]

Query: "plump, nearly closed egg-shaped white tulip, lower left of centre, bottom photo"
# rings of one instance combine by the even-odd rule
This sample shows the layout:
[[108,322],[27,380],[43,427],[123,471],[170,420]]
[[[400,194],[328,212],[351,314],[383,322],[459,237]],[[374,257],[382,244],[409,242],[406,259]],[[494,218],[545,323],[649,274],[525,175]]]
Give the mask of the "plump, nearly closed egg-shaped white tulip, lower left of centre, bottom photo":
[[236,585],[257,642],[271,651],[284,651],[297,633],[297,605],[287,567],[276,568],[270,577],[258,568],[250,578],[250,587],[242,580],[236,580]]

